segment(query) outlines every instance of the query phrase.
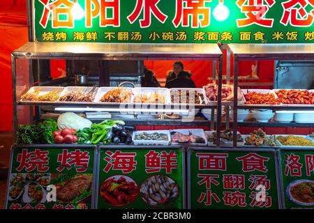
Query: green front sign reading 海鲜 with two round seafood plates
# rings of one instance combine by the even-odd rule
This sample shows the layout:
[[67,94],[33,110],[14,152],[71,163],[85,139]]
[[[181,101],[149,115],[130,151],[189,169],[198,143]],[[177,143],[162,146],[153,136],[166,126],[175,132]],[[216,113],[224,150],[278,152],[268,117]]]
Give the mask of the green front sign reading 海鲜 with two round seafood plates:
[[181,148],[101,148],[97,208],[184,208]]

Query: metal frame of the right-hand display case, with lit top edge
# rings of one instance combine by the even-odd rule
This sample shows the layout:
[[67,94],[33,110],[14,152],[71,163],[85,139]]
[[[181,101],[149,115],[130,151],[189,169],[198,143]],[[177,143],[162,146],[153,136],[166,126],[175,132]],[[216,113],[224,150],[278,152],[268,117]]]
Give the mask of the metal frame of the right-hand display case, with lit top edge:
[[[313,61],[314,44],[228,44],[228,50],[234,55],[234,112],[233,112],[233,132],[237,132],[239,123],[237,122],[237,109],[272,109],[300,111],[314,111],[314,105],[238,105],[237,88],[239,75],[239,61],[249,60],[298,60]],[[241,123],[241,126],[287,126],[285,123]],[[314,127],[313,124],[298,124],[295,127]],[[233,146],[237,147],[237,134],[233,135]]]

